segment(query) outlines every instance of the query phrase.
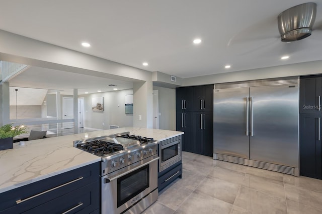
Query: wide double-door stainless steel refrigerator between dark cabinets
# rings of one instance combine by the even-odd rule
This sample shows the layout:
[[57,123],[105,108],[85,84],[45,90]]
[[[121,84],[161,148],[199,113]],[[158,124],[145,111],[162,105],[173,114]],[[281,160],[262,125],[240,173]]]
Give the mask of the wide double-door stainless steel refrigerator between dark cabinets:
[[214,159],[298,176],[298,78],[215,84]]

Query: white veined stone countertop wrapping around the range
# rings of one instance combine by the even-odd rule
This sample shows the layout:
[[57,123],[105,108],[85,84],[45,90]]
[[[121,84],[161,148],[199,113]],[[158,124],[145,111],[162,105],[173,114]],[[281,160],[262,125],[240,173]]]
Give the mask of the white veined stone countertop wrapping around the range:
[[184,132],[125,127],[14,143],[0,151],[0,193],[101,161],[101,157],[73,147],[73,141],[127,132],[162,141]]

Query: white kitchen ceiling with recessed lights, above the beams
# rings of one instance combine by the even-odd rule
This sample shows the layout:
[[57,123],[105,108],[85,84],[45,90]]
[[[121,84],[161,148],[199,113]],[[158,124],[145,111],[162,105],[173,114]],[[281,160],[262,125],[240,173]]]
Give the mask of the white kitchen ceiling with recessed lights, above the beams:
[[[4,0],[0,29],[181,78],[322,60],[313,34],[282,43],[277,17],[302,0]],[[194,45],[193,39],[202,43]],[[84,48],[81,42],[92,46]],[[289,55],[288,60],[280,57]],[[142,62],[148,62],[147,67]],[[226,64],[231,65],[229,70]]]

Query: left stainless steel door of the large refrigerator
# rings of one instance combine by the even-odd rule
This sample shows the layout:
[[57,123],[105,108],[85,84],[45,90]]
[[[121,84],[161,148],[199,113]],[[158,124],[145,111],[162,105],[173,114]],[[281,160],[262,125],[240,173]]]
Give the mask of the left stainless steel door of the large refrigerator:
[[250,158],[250,88],[214,90],[214,153]]

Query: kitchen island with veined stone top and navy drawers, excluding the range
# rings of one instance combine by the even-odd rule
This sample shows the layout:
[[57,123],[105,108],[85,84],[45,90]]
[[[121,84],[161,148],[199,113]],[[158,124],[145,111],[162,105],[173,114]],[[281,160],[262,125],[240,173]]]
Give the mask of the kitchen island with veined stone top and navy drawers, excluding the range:
[[[14,143],[0,151],[0,214],[100,213],[101,157],[74,147],[74,141],[129,132],[165,141],[183,132],[125,127]],[[50,212],[50,213],[51,213]]]

